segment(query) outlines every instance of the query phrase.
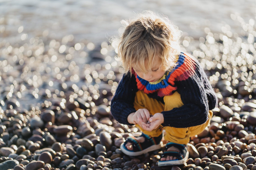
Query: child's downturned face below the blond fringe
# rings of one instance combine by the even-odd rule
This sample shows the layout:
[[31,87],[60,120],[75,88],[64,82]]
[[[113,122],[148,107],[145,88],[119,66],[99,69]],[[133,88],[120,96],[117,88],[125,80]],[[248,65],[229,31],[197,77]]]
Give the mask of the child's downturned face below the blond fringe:
[[[146,64],[147,63],[145,62],[145,65]],[[133,66],[133,64],[132,64],[132,66]],[[148,82],[158,81],[165,73],[165,71],[163,70],[162,61],[159,58],[155,59],[155,61],[153,62],[153,66],[146,73],[143,73],[142,71],[140,71],[140,69],[136,68],[136,66],[134,66],[133,69],[139,77],[141,77],[142,79],[144,79]]]

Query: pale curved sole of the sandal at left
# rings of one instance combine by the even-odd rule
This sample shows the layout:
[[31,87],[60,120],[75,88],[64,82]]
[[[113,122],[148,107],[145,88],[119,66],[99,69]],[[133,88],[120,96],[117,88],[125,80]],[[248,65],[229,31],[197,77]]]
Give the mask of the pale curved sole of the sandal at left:
[[157,150],[157,149],[161,149],[163,147],[163,142],[160,142],[158,145],[152,145],[142,151],[138,151],[138,152],[132,152],[132,151],[128,151],[125,149],[125,146],[124,146],[124,143],[122,143],[120,145],[120,149],[121,151],[126,154],[126,155],[129,155],[129,156],[138,156],[138,155],[142,155],[144,153],[147,153],[147,152],[151,152],[151,151],[154,151],[154,150]]

